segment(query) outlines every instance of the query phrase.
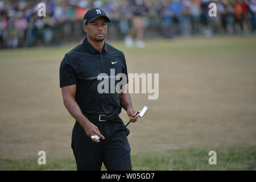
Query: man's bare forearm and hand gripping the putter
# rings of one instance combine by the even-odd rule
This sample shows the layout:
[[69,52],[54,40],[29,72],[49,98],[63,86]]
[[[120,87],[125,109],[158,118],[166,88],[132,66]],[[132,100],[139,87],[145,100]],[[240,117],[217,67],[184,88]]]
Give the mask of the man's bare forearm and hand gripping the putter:
[[126,110],[128,116],[130,118],[130,121],[136,122],[138,119],[138,115],[136,115],[137,111],[135,109],[133,109],[133,105],[131,104],[131,96],[128,93],[127,86],[126,85],[124,85],[123,87],[121,86],[120,89],[126,90],[126,92],[122,92],[122,93],[118,94],[120,104],[123,107],[123,109]]

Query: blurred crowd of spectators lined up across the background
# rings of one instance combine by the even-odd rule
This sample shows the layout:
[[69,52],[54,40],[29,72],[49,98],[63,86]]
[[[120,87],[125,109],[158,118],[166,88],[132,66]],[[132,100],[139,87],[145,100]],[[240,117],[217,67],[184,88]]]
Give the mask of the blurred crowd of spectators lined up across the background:
[[[40,17],[39,3],[46,16]],[[210,17],[209,3],[216,3],[217,16]],[[0,1],[0,48],[56,46],[80,41],[86,35],[82,20],[92,7],[109,16],[108,39],[176,35],[255,34],[256,0],[52,0]],[[137,34],[137,35],[136,35]]]

